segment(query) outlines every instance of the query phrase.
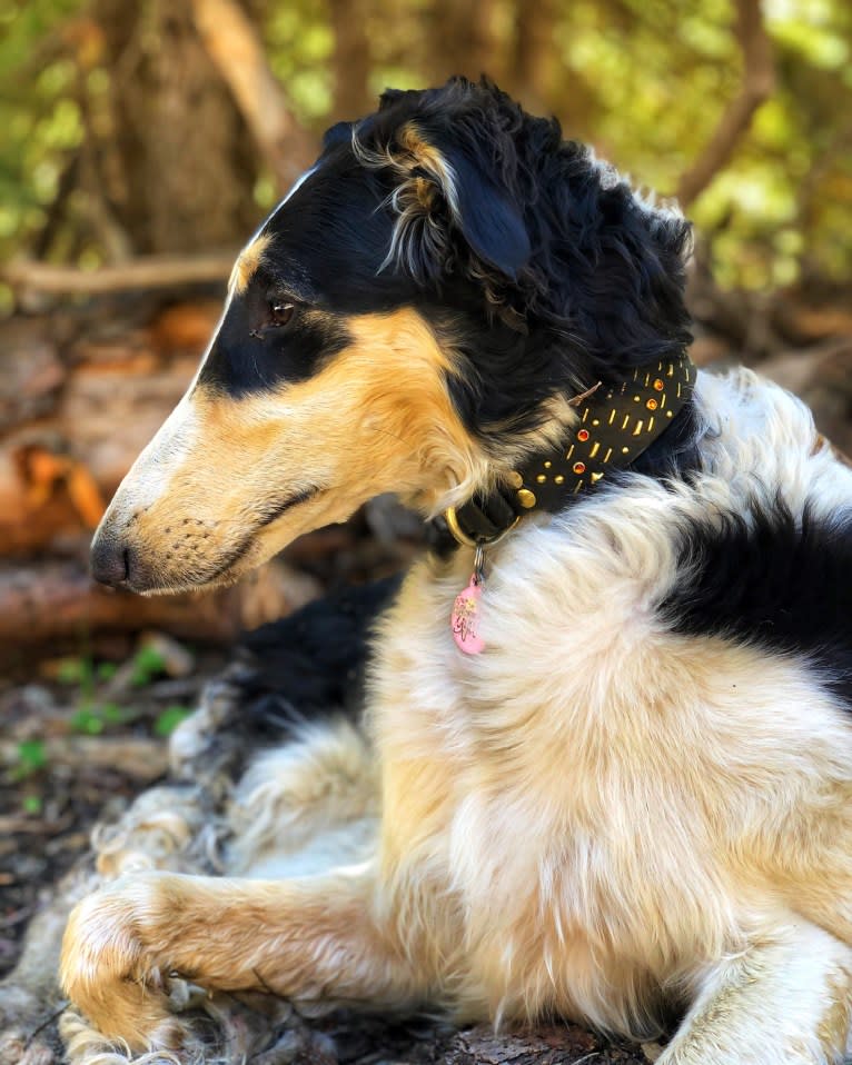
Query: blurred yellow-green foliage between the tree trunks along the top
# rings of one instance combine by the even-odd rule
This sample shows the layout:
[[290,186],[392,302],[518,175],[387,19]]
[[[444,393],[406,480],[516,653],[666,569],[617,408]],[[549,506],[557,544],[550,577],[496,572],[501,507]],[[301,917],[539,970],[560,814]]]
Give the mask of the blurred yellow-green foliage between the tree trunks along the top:
[[[269,62],[295,118],[319,131],[345,117],[333,113],[338,42],[329,9],[309,0],[248,7],[262,16]],[[368,88],[407,88],[452,72],[434,24],[453,7],[365,0]],[[494,73],[524,97],[515,56],[524,2],[492,0],[487,10]],[[554,0],[551,10],[555,73],[531,102],[551,108],[568,136],[592,142],[634,179],[673,195],[741,87],[733,0]],[[785,285],[803,271],[846,277],[852,6],[764,0],[763,10],[775,93],[690,213],[712,236],[714,268],[725,283]],[[0,257],[39,248],[63,175],[121,76],[99,51],[97,11],[96,0],[7,0],[0,10]],[[141,23],[152,8],[145,0],[138,11]],[[277,190],[261,177],[249,195],[260,210]],[[71,197],[71,221],[52,233],[55,258],[89,262],[103,253],[83,225],[83,199]],[[71,232],[78,223],[80,232]]]

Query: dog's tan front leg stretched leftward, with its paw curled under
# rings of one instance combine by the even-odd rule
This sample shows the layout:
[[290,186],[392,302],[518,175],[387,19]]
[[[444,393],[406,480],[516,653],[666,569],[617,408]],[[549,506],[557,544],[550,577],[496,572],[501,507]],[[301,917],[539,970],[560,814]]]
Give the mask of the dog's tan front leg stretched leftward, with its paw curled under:
[[284,882],[141,873],[73,910],[60,977],[89,1021],[131,1049],[181,1042],[170,976],[295,999],[414,1001],[409,969],[374,913],[364,867]]

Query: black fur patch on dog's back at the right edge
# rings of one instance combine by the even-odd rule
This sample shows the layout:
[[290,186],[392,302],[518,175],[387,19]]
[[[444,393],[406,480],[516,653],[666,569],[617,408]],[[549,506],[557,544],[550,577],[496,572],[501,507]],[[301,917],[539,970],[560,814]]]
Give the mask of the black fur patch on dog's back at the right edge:
[[805,656],[852,707],[852,515],[795,520],[779,502],[699,524],[660,610],[676,633]]

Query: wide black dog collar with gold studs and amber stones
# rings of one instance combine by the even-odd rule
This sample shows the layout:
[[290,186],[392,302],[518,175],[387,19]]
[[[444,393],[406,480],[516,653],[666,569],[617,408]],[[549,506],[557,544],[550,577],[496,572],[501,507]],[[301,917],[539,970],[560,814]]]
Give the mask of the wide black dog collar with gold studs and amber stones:
[[494,543],[525,515],[556,511],[573,496],[593,491],[607,472],[627,469],[675,420],[695,387],[696,369],[684,351],[637,367],[622,385],[596,385],[572,400],[579,418],[556,450],[534,456],[487,499],[449,508],[453,538],[469,547]]

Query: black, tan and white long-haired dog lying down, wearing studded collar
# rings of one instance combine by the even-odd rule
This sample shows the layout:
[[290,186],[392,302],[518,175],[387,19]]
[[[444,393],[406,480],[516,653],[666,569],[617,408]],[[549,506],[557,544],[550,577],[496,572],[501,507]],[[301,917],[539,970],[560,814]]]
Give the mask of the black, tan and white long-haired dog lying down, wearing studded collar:
[[697,371],[688,223],[487,81],[328,131],[239,256],[95,538],[141,594],[236,580],[395,491],[436,546],[363,729],[248,772],[224,877],[86,898],[62,985],[179,1046],[169,981],[546,1016],[662,1065],[838,1063],[852,1014],[852,471]]

